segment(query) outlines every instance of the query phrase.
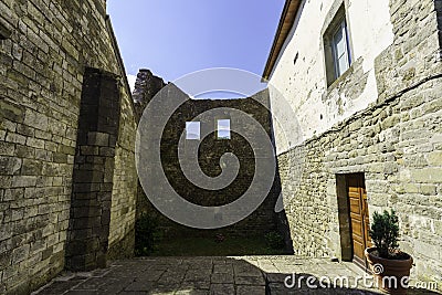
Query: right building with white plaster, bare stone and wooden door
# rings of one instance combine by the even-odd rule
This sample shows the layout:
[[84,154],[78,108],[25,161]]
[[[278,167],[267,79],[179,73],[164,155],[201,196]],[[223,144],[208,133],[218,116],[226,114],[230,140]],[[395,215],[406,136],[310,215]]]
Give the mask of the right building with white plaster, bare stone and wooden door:
[[441,29],[440,0],[286,1],[263,76],[301,129],[285,144],[275,124],[295,254],[365,266],[392,208],[414,274],[442,281]]

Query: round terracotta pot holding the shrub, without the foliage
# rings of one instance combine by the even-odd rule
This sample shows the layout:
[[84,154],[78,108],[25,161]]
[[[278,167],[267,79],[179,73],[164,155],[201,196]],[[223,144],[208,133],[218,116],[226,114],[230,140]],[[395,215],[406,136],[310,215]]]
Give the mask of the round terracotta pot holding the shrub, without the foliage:
[[371,254],[376,247],[367,247],[365,255],[375,276],[375,284],[387,294],[407,294],[413,259],[386,260]]

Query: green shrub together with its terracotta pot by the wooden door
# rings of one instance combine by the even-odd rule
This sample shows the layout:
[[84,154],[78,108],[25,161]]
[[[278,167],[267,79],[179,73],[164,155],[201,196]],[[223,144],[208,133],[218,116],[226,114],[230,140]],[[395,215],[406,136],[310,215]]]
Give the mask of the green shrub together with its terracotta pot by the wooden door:
[[375,212],[369,234],[373,247],[365,255],[379,289],[387,294],[407,294],[413,259],[399,250],[399,219],[396,212]]

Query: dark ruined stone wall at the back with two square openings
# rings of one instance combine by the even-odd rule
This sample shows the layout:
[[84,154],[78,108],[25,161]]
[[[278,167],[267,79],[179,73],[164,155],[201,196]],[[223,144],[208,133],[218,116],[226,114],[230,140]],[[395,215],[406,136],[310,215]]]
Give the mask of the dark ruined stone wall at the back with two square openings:
[[[166,87],[166,88],[165,88]],[[161,91],[162,89],[162,91]],[[269,92],[266,89],[255,94],[249,98],[231,98],[231,99],[193,99],[182,89],[172,84],[165,84],[159,77],[156,77],[148,70],[140,70],[134,89],[134,101],[138,119],[146,106],[156,96],[155,99],[165,102],[167,105],[180,105],[173,114],[168,117],[168,123],[164,130],[157,133],[151,131],[146,136],[147,149],[152,150],[155,140],[154,136],[161,136],[161,166],[168,182],[173,190],[183,199],[191,203],[204,207],[221,207],[229,204],[242,197],[251,187],[253,177],[255,176],[256,160],[254,150],[250,145],[250,137],[254,127],[251,123],[244,123],[242,116],[238,116],[236,112],[246,114],[246,117],[253,117],[260,126],[265,129],[265,137],[272,137],[271,114],[269,110]],[[181,102],[182,98],[182,102]],[[182,104],[181,104],[182,103]],[[162,110],[162,112],[161,112]],[[158,118],[166,116],[164,109],[149,110],[146,109],[143,119],[146,119],[146,127],[149,130],[158,126]],[[225,135],[220,134],[220,124],[227,124]],[[143,124],[139,127],[144,129]],[[239,131],[242,134],[239,134]],[[204,137],[204,134],[207,136]],[[180,145],[180,137],[185,135]],[[198,165],[201,171],[209,178],[217,178],[221,175],[222,157],[225,154],[233,154],[239,160],[239,171],[234,180],[223,188],[208,189],[192,182],[189,176],[183,172],[183,162],[192,162],[190,150],[198,149]],[[263,148],[264,149],[264,148]],[[182,150],[183,152],[179,152]],[[274,159],[274,149],[265,154]],[[151,162],[148,161],[147,162]],[[230,165],[225,164],[225,167]],[[231,166],[230,166],[231,167]],[[230,168],[229,167],[229,168]],[[146,173],[151,172],[152,167],[148,167]],[[194,170],[193,175],[197,175]],[[199,183],[204,183],[201,180]],[[157,193],[158,187],[161,187],[161,198],[168,198],[166,186],[159,186],[155,181],[156,187],[146,186],[147,194]],[[138,189],[138,212],[154,215],[159,221],[162,234],[168,239],[177,236],[210,236],[224,234],[227,236],[263,236],[267,232],[276,230],[277,217],[274,213],[276,199],[280,194],[280,186],[277,181],[271,183],[271,189],[265,200],[256,208],[256,210],[245,217],[238,223],[218,230],[192,229],[171,221],[161,214],[147,199],[145,191],[140,187]],[[182,210],[178,208],[177,210]],[[188,212],[191,214],[191,212]]]

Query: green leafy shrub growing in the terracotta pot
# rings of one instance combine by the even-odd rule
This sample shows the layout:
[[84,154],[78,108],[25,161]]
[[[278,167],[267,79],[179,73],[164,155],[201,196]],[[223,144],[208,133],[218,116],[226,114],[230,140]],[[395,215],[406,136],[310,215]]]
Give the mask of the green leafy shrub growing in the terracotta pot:
[[385,210],[382,214],[375,212],[369,234],[380,257],[391,259],[396,256],[399,246],[399,219],[394,210],[391,210],[391,212]]

